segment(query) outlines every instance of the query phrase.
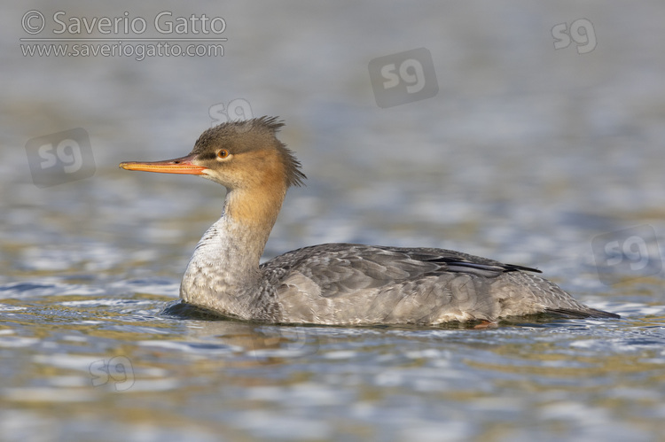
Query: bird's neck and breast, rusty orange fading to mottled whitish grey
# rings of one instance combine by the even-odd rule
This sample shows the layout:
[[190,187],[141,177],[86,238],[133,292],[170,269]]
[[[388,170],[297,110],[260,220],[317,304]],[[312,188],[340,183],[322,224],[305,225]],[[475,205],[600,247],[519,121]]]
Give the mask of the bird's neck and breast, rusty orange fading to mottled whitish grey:
[[207,229],[180,288],[186,302],[241,316],[265,288],[259,260],[277,220],[285,190],[230,190],[222,217]]

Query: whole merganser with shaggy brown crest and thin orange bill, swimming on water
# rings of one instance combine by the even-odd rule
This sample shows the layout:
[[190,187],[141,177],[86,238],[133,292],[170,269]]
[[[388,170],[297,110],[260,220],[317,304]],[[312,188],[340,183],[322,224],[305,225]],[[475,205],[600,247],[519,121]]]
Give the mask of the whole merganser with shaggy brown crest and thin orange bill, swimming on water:
[[[124,162],[127,170],[195,174],[226,190],[222,217],[201,238],[180,298],[246,321],[336,325],[496,323],[552,313],[617,318],[577,302],[535,268],[434,248],[320,244],[259,264],[300,162],[277,118],[209,128],[186,157]],[[182,302],[182,301],[181,301]]]

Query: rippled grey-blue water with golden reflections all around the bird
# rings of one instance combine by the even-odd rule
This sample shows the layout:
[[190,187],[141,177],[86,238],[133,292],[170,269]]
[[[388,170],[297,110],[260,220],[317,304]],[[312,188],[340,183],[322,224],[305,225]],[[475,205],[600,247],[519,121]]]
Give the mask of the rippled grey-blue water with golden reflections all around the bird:
[[[170,21],[182,32],[160,34],[161,12],[169,12],[162,30]],[[223,18],[208,23],[223,23],[223,32],[196,34],[202,23],[191,17],[203,14]],[[3,434],[655,440],[665,416],[655,375],[665,363],[663,17],[658,1],[3,4]],[[119,19],[121,32],[99,32],[97,22],[89,33],[95,18]],[[137,18],[145,32],[124,34]],[[27,38],[106,38],[84,43],[133,52],[40,56],[53,42]],[[176,38],[227,40],[196,42],[200,50],[222,44],[223,55],[137,54],[141,45],[189,44]],[[387,87],[391,78],[396,86]],[[224,190],[118,163],[179,157],[203,130],[262,115],[286,121],[280,138],[309,177],[289,192],[267,257],[325,242],[457,249],[541,268],[576,298],[633,319],[616,328],[559,324],[539,330],[541,341],[519,327],[482,339],[467,330],[312,329],[312,351],[293,330],[220,331],[219,323],[160,317],[221,213]],[[259,358],[246,353],[257,336],[286,351],[260,358],[273,358],[278,379],[247,362]],[[307,357],[290,359],[294,342]],[[589,345],[571,346],[580,342]],[[530,350],[515,356],[517,343]],[[403,345],[422,352],[391,359]],[[569,378],[556,363],[549,372],[532,361],[549,351]],[[630,377],[620,362],[627,355],[653,376]],[[153,384],[124,396],[93,388],[90,364],[114,356]],[[504,370],[515,363],[524,365],[519,382]],[[425,371],[409,371],[414,364]],[[585,364],[599,371],[575,371]],[[245,369],[258,369],[251,381]],[[192,387],[199,381],[209,388]],[[548,390],[558,383],[567,389]],[[614,396],[606,396],[610,385]],[[546,399],[534,389],[547,390]],[[129,395],[141,392],[151,399],[129,407]],[[496,397],[506,404],[500,419]]]

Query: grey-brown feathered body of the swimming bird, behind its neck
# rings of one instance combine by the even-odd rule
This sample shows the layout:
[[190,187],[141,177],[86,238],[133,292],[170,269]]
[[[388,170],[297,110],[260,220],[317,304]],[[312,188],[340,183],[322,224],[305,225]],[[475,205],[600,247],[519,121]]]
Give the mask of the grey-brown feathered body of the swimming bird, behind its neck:
[[441,323],[537,314],[591,314],[555,284],[461,252],[321,244],[262,265],[283,322]]

